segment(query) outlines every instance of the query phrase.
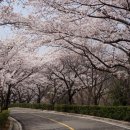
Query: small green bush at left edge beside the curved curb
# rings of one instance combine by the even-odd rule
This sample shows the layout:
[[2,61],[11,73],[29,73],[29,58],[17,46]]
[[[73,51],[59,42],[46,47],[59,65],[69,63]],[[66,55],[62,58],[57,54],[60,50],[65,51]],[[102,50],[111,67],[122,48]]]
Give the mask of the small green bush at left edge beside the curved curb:
[[4,127],[9,117],[9,111],[5,110],[0,113],[0,128]]

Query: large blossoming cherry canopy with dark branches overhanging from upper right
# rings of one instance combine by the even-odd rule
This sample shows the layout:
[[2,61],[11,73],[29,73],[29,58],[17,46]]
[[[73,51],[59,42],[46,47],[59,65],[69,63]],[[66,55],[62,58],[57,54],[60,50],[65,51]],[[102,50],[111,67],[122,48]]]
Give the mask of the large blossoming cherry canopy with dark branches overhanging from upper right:
[[[36,15],[44,19],[41,24],[32,24],[34,32],[43,34],[44,43],[55,43],[85,56],[95,69],[112,73],[122,69],[129,75],[129,1],[29,2]],[[104,58],[97,56],[93,47],[97,51],[101,47],[98,52],[103,51]]]

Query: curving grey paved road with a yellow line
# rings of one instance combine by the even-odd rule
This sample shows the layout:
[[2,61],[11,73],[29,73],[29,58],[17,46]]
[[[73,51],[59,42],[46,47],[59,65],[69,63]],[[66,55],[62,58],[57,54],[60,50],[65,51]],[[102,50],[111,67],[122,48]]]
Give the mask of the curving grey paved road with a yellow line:
[[100,121],[31,109],[11,109],[11,116],[22,124],[23,130],[128,130]]

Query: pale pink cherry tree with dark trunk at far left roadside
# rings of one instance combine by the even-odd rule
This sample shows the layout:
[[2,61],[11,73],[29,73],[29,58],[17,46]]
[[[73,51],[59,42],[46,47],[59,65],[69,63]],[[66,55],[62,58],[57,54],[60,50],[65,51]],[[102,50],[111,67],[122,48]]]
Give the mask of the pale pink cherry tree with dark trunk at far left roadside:
[[29,52],[26,40],[23,37],[17,37],[1,43],[0,84],[2,96],[0,101],[2,109],[8,108],[12,90],[38,71],[39,66],[36,66],[38,58],[33,55],[33,51]]

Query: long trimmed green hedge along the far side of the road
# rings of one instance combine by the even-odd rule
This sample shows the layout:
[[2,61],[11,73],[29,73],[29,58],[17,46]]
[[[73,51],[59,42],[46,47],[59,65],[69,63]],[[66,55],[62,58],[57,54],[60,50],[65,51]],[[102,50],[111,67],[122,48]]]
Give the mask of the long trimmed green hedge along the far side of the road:
[[78,113],[92,116],[111,118],[116,120],[130,121],[129,106],[85,106],[66,104],[13,104],[12,107],[25,107],[42,110],[55,110],[59,112]]

